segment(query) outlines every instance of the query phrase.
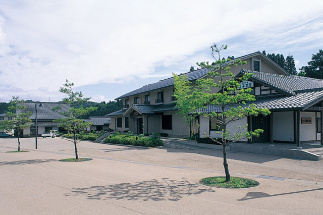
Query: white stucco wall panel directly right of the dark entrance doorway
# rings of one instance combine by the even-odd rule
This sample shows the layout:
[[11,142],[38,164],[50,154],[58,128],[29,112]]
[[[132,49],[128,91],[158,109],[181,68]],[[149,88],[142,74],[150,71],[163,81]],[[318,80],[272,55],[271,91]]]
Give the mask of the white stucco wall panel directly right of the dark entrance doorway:
[[275,141],[294,141],[294,112],[274,112],[273,135]]

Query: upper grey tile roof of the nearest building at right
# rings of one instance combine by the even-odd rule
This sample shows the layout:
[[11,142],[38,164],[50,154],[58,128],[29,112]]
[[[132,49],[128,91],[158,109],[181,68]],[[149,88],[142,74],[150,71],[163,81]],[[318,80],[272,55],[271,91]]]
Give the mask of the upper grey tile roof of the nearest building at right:
[[[242,70],[241,73],[253,73],[251,80],[277,88],[287,94],[295,95],[299,91],[323,89],[323,80],[297,75],[276,75],[271,73]],[[239,76],[239,74],[238,74]]]

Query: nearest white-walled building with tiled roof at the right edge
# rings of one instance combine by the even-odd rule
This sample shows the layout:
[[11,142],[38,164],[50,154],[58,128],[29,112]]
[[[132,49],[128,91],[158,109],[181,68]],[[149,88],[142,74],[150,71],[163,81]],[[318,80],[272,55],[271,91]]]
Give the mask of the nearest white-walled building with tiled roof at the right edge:
[[[254,103],[257,108],[267,108],[272,112],[266,117],[246,117],[240,122],[235,122],[237,125],[248,123],[248,130],[264,130],[258,138],[251,138],[251,142],[291,142],[296,143],[299,148],[301,143],[305,142],[323,144],[323,80],[250,70],[241,70],[236,77],[245,73],[252,73],[248,81],[252,83],[251,93],[255,95],[256,100],[241,106]],[[209,104],[197,110],[199,113],[221,111],[218,106]],[[217,136],[217,129],[211,128],[208,119],[200,116],[200,124],[201,136],[204,132]]]

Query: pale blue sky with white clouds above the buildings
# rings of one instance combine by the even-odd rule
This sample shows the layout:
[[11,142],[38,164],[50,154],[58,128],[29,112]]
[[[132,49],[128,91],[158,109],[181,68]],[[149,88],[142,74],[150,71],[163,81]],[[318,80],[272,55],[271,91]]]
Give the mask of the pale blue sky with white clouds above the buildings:
[[306,66],[323,48],[323,1],[0,0],[0,101],[60,101],[68,79],[92,101],[255,51]]

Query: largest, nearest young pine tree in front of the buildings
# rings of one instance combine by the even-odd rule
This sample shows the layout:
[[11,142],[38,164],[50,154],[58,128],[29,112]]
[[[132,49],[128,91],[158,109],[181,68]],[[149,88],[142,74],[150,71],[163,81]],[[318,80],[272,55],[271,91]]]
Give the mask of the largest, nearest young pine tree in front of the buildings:
[[[192,88],[192,93],[186,95],[186,97],[187,100],[189,100],[188,103],[191,102],[194,104],[194,108],[199,108],[195,113],[203,114],[204,117],[217,123],[220,130],[217,132],[219,137],[212,137],[208,134],[204,135],[223,146],[223,165],[226,173],[226,181],[229,181],[230,173],[227,163],[227,145],[244,138],[251,138],[251,136],[259,136],[263,130],[256,129],[254,131],[246,131],[246,125],[237,127],[237,131],[231,133],[228,125],[246,116],[257,116],[260,113],[268,115],[270,114],[270,111],[268,109],[256,108],[255,104],[252,104],[255,97],[250,94],[251,88],[239,88],[240,82],[247,80],[252,74],[245,73],[241,78],[234,78],[235,76],[231,72],[231,66],[246,64],[246,62],[242,62],[241,60],[230,62],[231,59],[221,60],[220,51],[227,49],[227,46],[222,45],[219,49],[217,45],[214,44],[211,46],[211,49],[211,56],[216,61],[211,64],[209,64],[209,62],[197,63],[198,66],[210,70],[208,75],[211,78],[197,80],[197,85]],[[219,80],[219,82],[214,80]],[[212,88],[218,89],[218,92],[210,93]],[[185,96],[184,93],[182,94]],[[247,104],[247,102],[250,104]],[[205,105],[216,106],[220,111],[207,113],[205,112]],[[182,108],[179,103],[178,106]]]

